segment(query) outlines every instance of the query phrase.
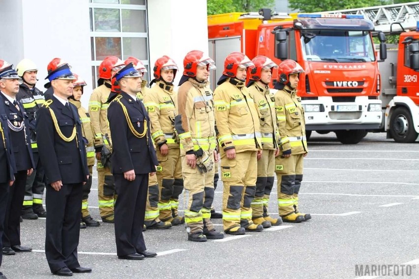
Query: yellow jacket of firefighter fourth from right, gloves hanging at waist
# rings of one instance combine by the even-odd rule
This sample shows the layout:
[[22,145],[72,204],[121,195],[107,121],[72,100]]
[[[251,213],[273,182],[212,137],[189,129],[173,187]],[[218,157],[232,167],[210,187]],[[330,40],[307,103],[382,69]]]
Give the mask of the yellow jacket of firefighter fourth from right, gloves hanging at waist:
[[189,78],[178,90],[176,130],[180,139],[180,155],[191,154],[202,148],[216,147],[215,118],[212,92],[206,83]]

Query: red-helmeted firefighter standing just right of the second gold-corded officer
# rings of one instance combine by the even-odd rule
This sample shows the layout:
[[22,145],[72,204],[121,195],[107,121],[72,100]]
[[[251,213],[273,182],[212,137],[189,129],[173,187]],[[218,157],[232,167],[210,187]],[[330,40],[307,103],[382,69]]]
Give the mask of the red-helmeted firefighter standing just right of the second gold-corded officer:
[[153,68],[155,83],[144,96],[151,119],[151,137],[157,148],[157,180],[160,200],[159,219],[172,225],[185,223],[179,216],[179,195],[183,191],[182,167],[180,162],[179,137],[175,132],[175,116],[178,114],[178,93],[173,80],[178,66],[169,56],[156,60]]

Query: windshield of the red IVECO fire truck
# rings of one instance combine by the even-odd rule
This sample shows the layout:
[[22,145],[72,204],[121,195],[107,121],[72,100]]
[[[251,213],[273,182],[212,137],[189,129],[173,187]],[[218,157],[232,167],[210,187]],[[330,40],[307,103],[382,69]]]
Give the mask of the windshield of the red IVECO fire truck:
[[375,61],[368,31],[301,30],[304,60],[325,62]]

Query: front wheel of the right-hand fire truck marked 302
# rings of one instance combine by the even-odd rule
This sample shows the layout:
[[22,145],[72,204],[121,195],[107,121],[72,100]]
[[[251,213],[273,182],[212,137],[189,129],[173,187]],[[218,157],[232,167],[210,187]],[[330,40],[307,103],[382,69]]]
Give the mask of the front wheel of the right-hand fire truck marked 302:
[[412,115],[405,107],[398,107],[391,114],[390,135],[395,142],[409,143],[418,138]]

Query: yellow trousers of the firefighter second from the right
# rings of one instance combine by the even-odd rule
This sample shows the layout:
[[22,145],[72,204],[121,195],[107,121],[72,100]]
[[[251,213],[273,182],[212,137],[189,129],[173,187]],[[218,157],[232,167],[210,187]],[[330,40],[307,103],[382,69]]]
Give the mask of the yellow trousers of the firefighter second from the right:
[[[256,193],[252,201],[252,218],[268,216],[268,203],[272,191],[275,174],[275,150],[263,150],[258,161],[258,177],[256,179]],[[266,213],[264,214],[266,208]]]

